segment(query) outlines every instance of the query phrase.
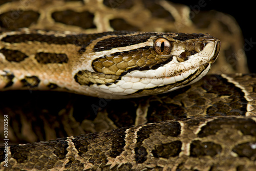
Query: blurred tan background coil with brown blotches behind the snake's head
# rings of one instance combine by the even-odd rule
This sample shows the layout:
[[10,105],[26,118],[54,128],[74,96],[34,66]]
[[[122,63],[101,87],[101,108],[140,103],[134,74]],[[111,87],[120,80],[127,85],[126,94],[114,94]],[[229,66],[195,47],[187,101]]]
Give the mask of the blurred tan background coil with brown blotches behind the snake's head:
[[211,73],[248,72],[238,24],[231,16],[217,11],[200,12],[190,18],[187,6],[146,0],[3,1],[0,11],[0,27],[11,30],[28,27],[80,33],[113,30],[209,33],[222,42],[219,60]]

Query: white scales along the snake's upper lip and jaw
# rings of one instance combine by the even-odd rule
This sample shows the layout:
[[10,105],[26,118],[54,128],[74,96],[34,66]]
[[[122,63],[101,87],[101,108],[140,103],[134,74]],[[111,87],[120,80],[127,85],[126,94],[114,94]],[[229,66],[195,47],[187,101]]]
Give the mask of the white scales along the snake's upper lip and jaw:
[[[183,51],[180,51],[179,53],[182,52]],[[209,41],[202,51],[189,56],[189,59],[184,62],[178,62],[177,57],[173,56],[172,61],[166,63],[162,67],[157,68],[156,70],[134,70],[123,75],[120,81],[113,83],[110,86],[106,86],[105,84],[93,84],[93,87],[100,89],[100,91],[105,93],[112,92],[112,94],[115,95],[129,95],[137,92],[138,90],[152,89],[168,84],[174,84],[176,82],[185,80],[187,77],[197,72],[200,66],[205,65],[205,63],[207,63],[214,56],[214,53],[215,43]],[[198,75],[193,81],[187,83],[185,86],[200,80],[208,73],[210,68],[211,63],[200,75]],[[166,92],[185,86],[175,87]]]

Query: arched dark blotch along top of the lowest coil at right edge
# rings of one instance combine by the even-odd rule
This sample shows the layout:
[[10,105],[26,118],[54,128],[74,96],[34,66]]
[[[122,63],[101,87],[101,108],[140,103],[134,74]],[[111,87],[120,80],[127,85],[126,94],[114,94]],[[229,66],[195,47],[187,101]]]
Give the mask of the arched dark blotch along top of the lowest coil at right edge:
[[229,125],[233,129],[241,131],[244,135],[256,136],[256,123],[254,120],[232,117],[217,118],[208,122],[202,126],[198,136],[207,137],[209,135],[215,135],[219,130],[223,129],[223,125]]

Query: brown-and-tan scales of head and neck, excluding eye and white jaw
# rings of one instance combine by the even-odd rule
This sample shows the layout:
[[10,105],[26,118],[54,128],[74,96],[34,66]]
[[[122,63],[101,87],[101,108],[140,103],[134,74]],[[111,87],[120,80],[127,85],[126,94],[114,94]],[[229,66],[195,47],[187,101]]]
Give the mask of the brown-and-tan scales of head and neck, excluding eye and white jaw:
[[[153,42],[160,37],[170,41],[170,54],[159,55],[155,52]],[[173,56],[182,62],[188,58],[184,54],[179,55],[179,51],[195,54],[204,50],[206,42],[219,42],[208,34],[195,33],[115,31],[79,34],[26,28],[3,31],[0,41],[0,68],[15,76],[12,87],[1,83],[5,90],[25,90],[31,87],[49,90],[49,84],[56,84],[59,90],[95,97],[103,97],[107,93],[90,87],[91,84],[118,82],[122,76],[133,70],[157,69],[172,61]],[[215,55],[210,63],[215,61],[219,50],[218,43],[216,50],[212,52]],[[204,69],[206,67],[201,66],[193,79],[187,79],[187,82],[194,80]],[[177,75],[180,72],[182,70],[173,73]],[[27,83],[24,77],[36,77],[38,83]],[[154,93],[157,90],[167,91],[168,88],[156,89]]]

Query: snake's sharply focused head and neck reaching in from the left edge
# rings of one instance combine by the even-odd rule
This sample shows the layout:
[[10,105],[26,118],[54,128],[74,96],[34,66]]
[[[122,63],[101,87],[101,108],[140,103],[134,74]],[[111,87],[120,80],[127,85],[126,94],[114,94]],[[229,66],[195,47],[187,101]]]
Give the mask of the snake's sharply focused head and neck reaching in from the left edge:
[[[163,49],[162,40],[169,45],[166,54],[159,54],[159,39]],[[3,31],[0,41],[3,91],[62,90],[111,99],[182,88],[207,74],[220,51],[218,39],[196,33],[20,29]]]

